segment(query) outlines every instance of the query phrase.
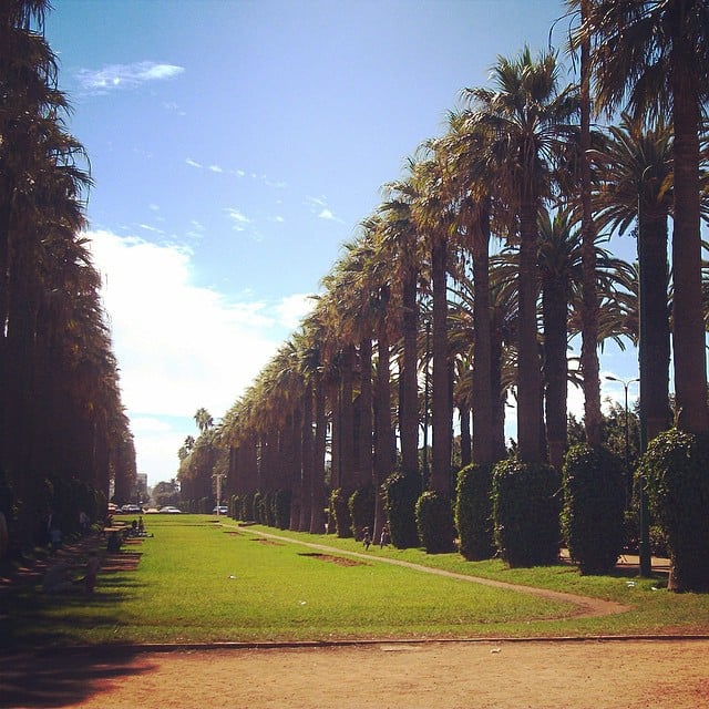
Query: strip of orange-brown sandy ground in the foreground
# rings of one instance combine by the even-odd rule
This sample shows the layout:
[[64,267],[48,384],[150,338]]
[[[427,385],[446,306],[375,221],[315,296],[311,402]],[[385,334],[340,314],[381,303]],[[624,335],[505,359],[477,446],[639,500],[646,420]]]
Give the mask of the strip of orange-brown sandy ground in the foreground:
[[709,640],[381,643],[0,658],[0,706],[699,709]]

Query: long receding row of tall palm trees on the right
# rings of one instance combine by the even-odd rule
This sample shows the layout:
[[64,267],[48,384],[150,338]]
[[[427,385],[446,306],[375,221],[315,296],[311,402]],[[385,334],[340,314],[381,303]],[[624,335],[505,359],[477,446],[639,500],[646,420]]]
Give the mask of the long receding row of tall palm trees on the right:
[[[322,528],[326,481],[378,492],[399,469],[450,499],[454,410],[461,464],[494,463],[507,454],[510,395],[518,459],[561,470],[569,378],[584,390],[586,440],[602,443],[606,338],[639,346],[653,439],[671,423],[670,322],[676,422],[709,433],[700,242],[709,8],[567,6],[578,84],[563,84],[555,52],[525,48],[497,59],[490,86],[463,91],[446,133],[384,186],[311,315],[209,432],[232,493],[287,489],[290,526],[311,532]],[[604,111],[617,123],[592,131]],[[630,226],[636,265],[602,246]],[[181,471],[183,490],[199,476],[208,490],[210,470]]]

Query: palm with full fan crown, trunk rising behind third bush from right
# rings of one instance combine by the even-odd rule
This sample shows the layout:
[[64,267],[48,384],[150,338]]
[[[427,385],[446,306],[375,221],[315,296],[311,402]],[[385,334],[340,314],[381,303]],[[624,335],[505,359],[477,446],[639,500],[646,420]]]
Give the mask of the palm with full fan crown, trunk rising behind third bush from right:
[[516,216],[520,234],[517,435],[520,456],[544,460],[542,386],[536,330],[537,217],[554,188],[555,163],[577,133],[573,124],[578,99],[572,86],[559,90],[559,68],[552,53],[537,60],[525,48],[517,58],[500,58],[494,89],[465,93],[474,120],[492,136],[486,161],[500,178],[496,186]]

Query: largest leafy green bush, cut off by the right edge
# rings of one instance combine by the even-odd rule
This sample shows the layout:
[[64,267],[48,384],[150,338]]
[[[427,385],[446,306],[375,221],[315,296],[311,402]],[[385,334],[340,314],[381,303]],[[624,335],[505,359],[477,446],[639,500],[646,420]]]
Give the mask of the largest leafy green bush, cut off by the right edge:
[[709,438],[677,429],[654,439],[638,475],[671,561],[669,588],[709,592]]

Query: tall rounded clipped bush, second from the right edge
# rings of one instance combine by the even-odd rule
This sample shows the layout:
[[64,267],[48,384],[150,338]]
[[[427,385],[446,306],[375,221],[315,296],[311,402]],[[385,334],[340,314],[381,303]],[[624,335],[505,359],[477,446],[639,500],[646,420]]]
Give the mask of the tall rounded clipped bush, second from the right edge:
[[624,542],[625,476],[623,461],[606,448],[585,443],[564,461],[562,528],[582,574],[615,568]]

